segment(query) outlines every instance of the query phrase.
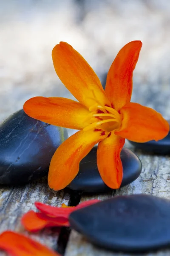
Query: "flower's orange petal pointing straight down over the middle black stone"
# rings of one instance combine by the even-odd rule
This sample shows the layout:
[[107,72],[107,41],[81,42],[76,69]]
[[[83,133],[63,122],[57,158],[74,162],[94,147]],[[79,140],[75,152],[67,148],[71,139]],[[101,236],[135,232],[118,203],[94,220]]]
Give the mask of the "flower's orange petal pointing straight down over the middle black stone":
[[97,167],[102,180],[112,189],[118,189],[122,183],[123,167],[120,152],[125,139],[113,132],[110,137],[99,142],[97,148]]

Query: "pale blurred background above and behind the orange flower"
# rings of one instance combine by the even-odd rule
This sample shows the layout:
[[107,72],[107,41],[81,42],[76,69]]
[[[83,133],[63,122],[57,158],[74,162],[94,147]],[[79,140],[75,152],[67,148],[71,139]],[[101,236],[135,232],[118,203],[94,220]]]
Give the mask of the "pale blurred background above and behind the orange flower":
[[132,101],[170,118],[170,0],[0,0],[0,121],[33,96],[72,98],[51,50],[66,41],[105,85],[125,44],[141,40]]

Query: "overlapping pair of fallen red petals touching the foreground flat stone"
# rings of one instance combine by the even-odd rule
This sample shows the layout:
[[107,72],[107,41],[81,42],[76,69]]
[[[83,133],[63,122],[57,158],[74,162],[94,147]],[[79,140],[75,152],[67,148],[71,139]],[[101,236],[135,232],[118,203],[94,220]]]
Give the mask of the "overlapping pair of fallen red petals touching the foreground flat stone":
[[77,209],[86,207],[91,204],[98,203],[99,200],[85,201],[76,207],[52,207],[47,204],[36,202],[35,206],[40,212],[29,211],[23,215],[21,222],[26,230],[37,232],[45,227],[69,227],[69,215]]

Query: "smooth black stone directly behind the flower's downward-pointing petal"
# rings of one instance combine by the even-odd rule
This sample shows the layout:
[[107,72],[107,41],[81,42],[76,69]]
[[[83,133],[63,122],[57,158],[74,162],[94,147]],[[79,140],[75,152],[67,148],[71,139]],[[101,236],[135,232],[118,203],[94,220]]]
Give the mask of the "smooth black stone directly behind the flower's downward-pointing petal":
[[[79,173],[68,185],[73,190],[83,192],[107,192],[111,190],[99,175],[96,163],[97,146],[92,148],[90,153],[82,159],[79,165]],[[121,151],[121,160],[123,165],[123,180],[121,187],[130,184],[139,177],[142,171],[142,164],[139,158],[130,149],[123,148]]]

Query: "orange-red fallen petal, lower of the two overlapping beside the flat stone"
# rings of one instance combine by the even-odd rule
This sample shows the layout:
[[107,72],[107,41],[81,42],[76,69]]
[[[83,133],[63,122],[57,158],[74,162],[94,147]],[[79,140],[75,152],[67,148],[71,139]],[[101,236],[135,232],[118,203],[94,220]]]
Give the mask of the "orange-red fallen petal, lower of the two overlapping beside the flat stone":
[[30,232],[37,232],[45,227],[69,227],[68,218],[49,217],[41,212],[29,211],[21,218],[21,223]]

